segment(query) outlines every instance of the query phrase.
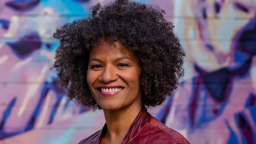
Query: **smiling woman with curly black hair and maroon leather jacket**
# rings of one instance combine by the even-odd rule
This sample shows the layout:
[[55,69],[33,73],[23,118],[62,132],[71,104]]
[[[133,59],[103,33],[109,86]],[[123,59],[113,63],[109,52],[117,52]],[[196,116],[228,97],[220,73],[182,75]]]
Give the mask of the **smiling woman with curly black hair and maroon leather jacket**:
[[79,144],[187,144],[181,134],[147,113],[163,103],[184,75],[185,56],[164,10],[129,0],[91,8],[65,24],[53,68],[68,97],[103,109],[104,127]]

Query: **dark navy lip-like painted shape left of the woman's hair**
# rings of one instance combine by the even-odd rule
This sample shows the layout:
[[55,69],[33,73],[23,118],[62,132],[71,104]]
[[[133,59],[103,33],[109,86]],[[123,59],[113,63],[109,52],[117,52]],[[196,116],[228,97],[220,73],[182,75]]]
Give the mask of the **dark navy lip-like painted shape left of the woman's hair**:
[[7,43],[12,51],[21,59],[28,57],[33,51],[38,50],[42,46],[42,42],[38,33],[31,33],[28,36],[21,38],[17,42]]

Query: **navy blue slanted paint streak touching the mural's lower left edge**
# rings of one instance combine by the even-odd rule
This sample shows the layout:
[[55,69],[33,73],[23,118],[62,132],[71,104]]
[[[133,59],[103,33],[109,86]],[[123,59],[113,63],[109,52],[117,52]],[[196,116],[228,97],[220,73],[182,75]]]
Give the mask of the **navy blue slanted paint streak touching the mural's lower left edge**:
[[14,135],[14,134],[7,134],[7,133],[5,133],[4,130],[3,130],[3,127],[4,127],[4,124],[5,124],[6,120],[7,120],[7,118],[8,118],[8,117],[10,116],[10,114],[11,114],[11,110],[12,110],[12,108],[14,107],[14,105],[15,105],[15,103],[16,103],[16,99],[17,99],[17,98],[14,97],[14,98],[11,100],[11,102],[9,103],[9,105],[7,106],[6,110],[5,110],[4,113],[3,113],[2,119],[1,119],[1,121],[0,121],[0,140],[1,140],[1,139],[4,139],[4,138],[6,138],[6,137],[9,137],[9,136]]

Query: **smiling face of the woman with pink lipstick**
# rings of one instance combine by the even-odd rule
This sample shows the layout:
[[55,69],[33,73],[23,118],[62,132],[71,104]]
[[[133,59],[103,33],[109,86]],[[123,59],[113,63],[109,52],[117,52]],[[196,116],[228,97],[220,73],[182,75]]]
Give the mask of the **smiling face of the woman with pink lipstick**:
[[107,111],[142,105],[141,71],[132,51],[119,41],[101,42],[89,56],[87,83],[97,104]]

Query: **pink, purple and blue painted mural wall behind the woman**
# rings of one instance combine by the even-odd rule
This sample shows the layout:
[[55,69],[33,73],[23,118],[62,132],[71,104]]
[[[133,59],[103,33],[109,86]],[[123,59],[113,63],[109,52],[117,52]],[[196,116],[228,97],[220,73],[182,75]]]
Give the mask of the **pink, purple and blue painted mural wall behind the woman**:
[[[186,49],[185,77],[149,108],[192,144],[256,143],[256,0],[140,0],[160,5]],[[71,144],[101,129],[49,71],[52,34],[104,0],[0,1],[0,144]]]

